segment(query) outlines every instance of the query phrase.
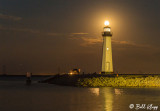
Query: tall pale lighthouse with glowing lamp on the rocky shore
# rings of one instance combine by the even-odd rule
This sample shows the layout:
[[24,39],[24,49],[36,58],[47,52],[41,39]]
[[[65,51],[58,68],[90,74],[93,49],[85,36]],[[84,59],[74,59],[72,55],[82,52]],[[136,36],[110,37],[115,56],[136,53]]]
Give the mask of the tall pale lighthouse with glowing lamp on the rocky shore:
[[112,45],[111,45],[112,32],[111,32],[111,27],[109,27],[109,21],[105,21],[105,27],[102,32],[102,37],[103,37],[103,55],[102,55],[101,74],[111,74],[113,73]]

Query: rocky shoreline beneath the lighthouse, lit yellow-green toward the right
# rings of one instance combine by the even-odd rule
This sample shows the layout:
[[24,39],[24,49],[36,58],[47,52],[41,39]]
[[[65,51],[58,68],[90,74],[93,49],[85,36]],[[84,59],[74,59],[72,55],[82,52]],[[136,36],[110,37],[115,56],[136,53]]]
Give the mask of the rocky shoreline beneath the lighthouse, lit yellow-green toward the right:
[[160,74],[64,74],[39,82],[75,87],[160,87]]

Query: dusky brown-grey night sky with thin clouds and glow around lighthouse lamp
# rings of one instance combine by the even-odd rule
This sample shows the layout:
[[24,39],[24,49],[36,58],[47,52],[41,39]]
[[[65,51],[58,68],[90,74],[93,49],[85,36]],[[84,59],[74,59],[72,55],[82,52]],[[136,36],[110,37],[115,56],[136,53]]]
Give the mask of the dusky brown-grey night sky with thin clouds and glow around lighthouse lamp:
[[159,0],[0,0],[0,73],[100,72],[105,20],[115,72],[160,73]]

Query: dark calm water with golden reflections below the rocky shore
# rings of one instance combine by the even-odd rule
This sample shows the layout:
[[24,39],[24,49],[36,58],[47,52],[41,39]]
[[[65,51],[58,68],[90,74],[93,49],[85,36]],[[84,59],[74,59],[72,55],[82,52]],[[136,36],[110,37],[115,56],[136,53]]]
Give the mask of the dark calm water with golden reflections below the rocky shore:
[[160,111],[160,88],[77,88],[37,80],[31,86],[24,78],[0,80],[0,111],[135,111],[130,104],[153,104]]

